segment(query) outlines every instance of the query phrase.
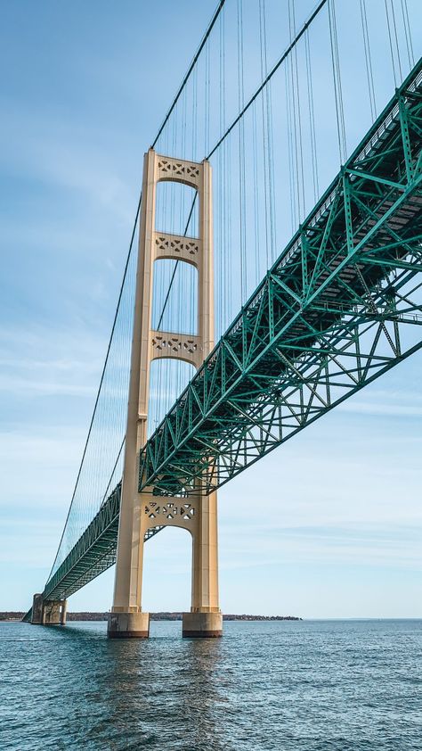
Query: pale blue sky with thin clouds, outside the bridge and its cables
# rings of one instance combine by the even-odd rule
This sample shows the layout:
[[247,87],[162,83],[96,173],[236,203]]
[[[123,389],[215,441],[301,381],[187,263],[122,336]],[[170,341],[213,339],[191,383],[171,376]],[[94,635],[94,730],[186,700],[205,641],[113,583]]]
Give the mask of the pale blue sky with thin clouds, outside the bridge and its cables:
[[[26,610],[53,563],[142,156],[214,8],[0,0],[2,610]],[[421,378],[419,352],[219,492],[223,612],[422,616]],[[113,575],[69,609],[109,609]],[[145,546],[142,609],[190,594],[190,538],[167,529]]]

